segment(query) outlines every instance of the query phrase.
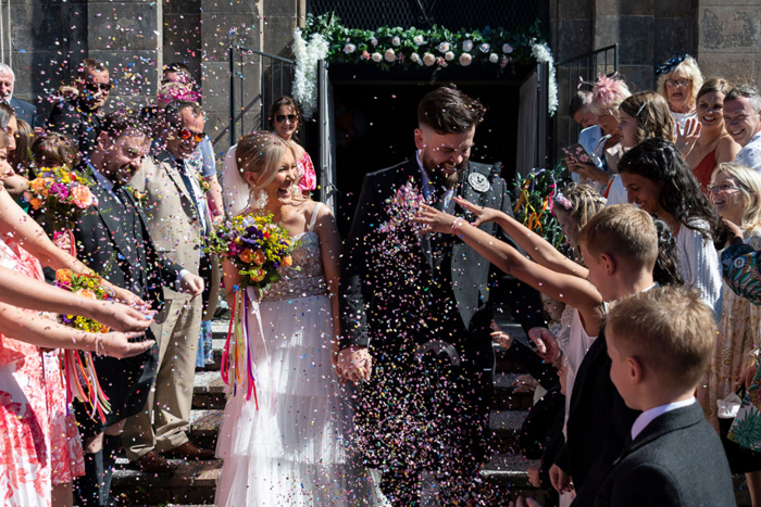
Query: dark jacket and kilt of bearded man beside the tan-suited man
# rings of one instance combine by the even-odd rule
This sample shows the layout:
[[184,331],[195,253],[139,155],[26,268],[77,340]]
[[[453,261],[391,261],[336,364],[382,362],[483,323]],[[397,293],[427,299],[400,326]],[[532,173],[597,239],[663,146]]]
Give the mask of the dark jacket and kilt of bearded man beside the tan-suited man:
[[[163,284],[174,284],[182,266],[159,256],[148,232],[147,220],[132,191],[117,191],[122,205],[92,176],[87,166],[79,168],[93,185],[90,187],[97,204],[85,210],[73,232],[77,258],[111,283],[127,289],[153,309],[161,308]],[[40,221],[45,221],[41,217]],[[147,333],[147,337],[152,338]],[[145,405],[155,375],[158,346],[126,359],[93,355],[101,388],[110,398],[112,413],[107,422],[87,417],[77,407],[77,421],[84,436],[91,436],[126,417],[137,414]]]

